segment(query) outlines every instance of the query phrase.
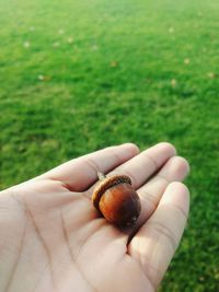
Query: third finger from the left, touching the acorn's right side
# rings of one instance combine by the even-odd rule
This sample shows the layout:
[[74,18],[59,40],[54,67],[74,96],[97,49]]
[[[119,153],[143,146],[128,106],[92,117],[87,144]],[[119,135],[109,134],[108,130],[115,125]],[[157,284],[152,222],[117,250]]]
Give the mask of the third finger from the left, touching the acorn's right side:
[[155,210],[165,188],[172,182],[182,182],[189,172],[187,161],[180,156],[171,157],[147,184],[138,189],[141,200],[141,213],[138,220],[139,229]]

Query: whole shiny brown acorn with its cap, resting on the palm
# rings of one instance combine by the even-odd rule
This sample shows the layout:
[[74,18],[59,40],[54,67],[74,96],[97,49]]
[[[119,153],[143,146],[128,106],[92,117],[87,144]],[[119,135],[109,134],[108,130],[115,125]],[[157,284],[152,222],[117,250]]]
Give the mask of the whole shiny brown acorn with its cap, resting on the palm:
[[93,190],[92,201],[99,212],[118,226],[131,226],[140,214],[140,199],[127,175],[105,176],[97,173],[100,183]]

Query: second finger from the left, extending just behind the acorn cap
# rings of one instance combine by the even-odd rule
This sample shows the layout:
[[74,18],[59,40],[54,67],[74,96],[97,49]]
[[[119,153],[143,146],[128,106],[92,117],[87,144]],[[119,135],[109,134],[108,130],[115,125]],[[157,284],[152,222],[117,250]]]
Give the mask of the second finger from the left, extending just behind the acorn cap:
[[[110,174],[125,174],[131,178],[134,188],[139,188],[146,180],[173,155],[175,155],[175,148],[166,142],[158,143],[129,161],[120,164],[114,168]],[[92,194],[92,186],[89,194]]]

